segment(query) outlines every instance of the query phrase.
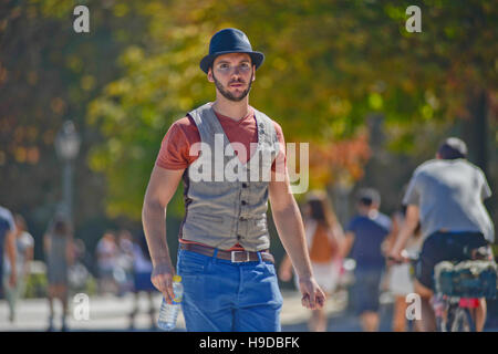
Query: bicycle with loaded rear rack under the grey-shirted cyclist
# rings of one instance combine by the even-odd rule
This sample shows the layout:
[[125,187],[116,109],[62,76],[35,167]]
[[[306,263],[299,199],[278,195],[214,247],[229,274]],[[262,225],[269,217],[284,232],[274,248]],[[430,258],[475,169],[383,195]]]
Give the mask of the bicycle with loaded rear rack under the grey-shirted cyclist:
[[[439,332],[475,332],[476,309],[479,299],[495,299],[497,295],[497,264],[488,248],[468,249],[466,261],[442,261],[435,266],[436,291],[430,300],[436,327]],[[394,263],[401,263],[387,258]],[[404,256],[411,263],[411,273],[418,256]]]

